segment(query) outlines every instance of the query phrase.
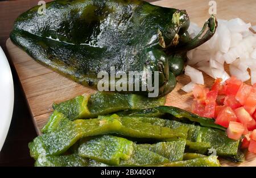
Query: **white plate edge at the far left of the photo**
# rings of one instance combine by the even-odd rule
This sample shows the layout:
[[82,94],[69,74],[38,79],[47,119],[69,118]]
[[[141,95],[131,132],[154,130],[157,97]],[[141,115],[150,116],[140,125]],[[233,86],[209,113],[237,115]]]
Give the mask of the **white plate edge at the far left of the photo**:
[[0,151],[10,127],[13,104],[13,76],[5,53],[0,47]]

